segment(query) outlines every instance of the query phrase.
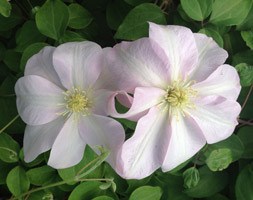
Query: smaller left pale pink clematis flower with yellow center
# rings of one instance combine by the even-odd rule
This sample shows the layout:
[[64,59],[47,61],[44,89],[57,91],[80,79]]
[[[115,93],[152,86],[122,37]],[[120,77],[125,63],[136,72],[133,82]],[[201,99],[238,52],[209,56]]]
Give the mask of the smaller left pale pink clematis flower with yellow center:
[[48,164],[66,168],[82,159],[86,145],[99,145],[111,150],[108,162],[115,165],[124,129],[107,117],[113,92],[101,86],[103,62],[93,42],[45,47],[29,59],[15,86],[18,112],[27,124],[26,162],[51,149]]

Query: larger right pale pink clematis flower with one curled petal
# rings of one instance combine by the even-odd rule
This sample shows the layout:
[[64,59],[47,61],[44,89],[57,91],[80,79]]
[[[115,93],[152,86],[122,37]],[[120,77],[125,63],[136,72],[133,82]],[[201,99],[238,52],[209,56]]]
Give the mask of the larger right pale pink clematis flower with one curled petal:
[[[232,134],[241,86],[236,70],[223,64],[227,52],[212,38],[150,23],[149,38],[122,42],[107,54],[121,90],[110,100],[110,113],[138,121],[116,169],[123,177],[141,179],[160,167],[167,172]],[[115,96],[126,92],[133,93],[132,105],[118,113]]]

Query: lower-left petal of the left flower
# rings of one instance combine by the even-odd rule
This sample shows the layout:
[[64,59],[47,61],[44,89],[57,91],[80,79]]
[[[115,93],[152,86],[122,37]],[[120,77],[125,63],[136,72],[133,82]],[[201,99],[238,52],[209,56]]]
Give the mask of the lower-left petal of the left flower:
[[24,155],[26,162],[33,161],[39,154],[51,149],[64,122],[64,119],[59,117],[47,124],[26,126],[24,136]]

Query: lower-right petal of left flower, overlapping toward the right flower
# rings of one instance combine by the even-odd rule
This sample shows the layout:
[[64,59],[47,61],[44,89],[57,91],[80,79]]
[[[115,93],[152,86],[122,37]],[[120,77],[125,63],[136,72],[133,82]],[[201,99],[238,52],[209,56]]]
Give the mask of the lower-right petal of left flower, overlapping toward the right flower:
[[79,130],[82,140],[95,151],[98,145],[110,150],[107,161],[116,168],[118,153],[125,140],[122,125],[109,117],[88,115],[80,119]]

